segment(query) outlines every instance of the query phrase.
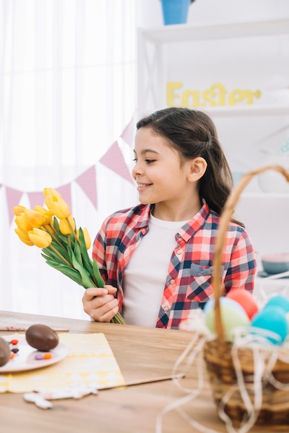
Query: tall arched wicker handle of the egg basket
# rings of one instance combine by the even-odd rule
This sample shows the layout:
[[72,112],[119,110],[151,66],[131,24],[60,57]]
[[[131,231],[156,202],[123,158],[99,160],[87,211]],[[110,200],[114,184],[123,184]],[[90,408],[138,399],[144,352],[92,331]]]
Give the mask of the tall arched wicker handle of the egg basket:
[[232,214],[234,213],[234,208],[236,203],[241,196],[243,189],[250,183],[254,176],[261,174],[267,170],[276,170],[277,172],[283,174],[286,181],[289,182],[289,172],[286,171],[280,165],[266,165],[265,167],[260,167],[259,169],[253,170],[244,174],[241,181],[236,185],[234,190],[228,196],[225,206],[221,213],[220,224],[218,226],[218,234],[216,237],[215,252],[213,257],[214,275],[213,275],[213,289],[214,289],[214,310],[215,310],[215,329],[217,338],[221,343],[225,342],[223,323],[221,320],[221,308],[220,308],[220,297],[223,293],[222,279],[221,279],[221,264],[222,264],[222,253],[225,244],[225,234],[227,232],[228,225],[232,219]]

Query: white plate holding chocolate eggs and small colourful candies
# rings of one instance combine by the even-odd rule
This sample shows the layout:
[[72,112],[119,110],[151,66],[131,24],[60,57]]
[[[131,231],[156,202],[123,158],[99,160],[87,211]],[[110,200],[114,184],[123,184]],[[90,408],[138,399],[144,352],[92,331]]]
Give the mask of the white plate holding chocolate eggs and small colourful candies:
[[[1,335],[1,337],[6,341],[11,340],[11,337],[9,338],[7,335],[5,335],[5,337]],[[15,337],[13,336],[12,339],[14,338]],[[17,347],[19,351],[15,353],[15,357],[9,360],[6,365],[0,367],[0,374],[18,373],[19,371],[28,371],[42,367],[48,367],[48,365],[56,364],[56,362],[63,360],[68,353],[68,347],[62,342],[59,342],[55,349],[49,351],[49,353],[52,354],[52,358],[47,360],[36,360],[35,355],[44,355],[44,353],[48,352],[37,351],[33,347],[29,346],[28,342],[26,342],[25,335],[17,335],[15,340],[18,340],[18,344],[14,347]],[[11,349],[12,347],[13,346],[10,345]]]

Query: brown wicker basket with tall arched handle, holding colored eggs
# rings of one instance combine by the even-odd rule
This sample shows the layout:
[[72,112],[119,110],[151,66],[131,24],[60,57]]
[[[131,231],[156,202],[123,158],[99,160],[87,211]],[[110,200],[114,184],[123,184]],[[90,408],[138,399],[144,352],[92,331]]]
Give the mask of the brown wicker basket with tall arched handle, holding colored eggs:
[[[283,167],[278,165],[261,167],[253,172],[245,174],[227,199],[225,208],[221,214],[221,221],[216,239],[213,280],[216,339],[209,340],[205,343],[203,354],[209,376],[209,383],[212,387],[216,405],[219,409],[221,403],[223,412],[230,417],[234,425],[240,425],[240,423],[243,423],[246,418],[248,419],[249,414],[248,406],[246,408],[241,391],[237,385],[236,370],[232,358],[232,344],[225,341],[223,324],[221,321],[219,300],[223,290],[221,286],[222,251],[225,243],[225,233],[241,192],[254,176],[257,176],[269,169],[280,172],[289,182],[289,172],[286,172]],[[275,356],[276,352],[280,351],[281,353],[281,351],[284,351],[281,347],[272,347],[272,349],[266,350],[274,351]],[[270,356],[270,353],[268,353],[268,356]],[[249,347],[239,349],[238,358],[245,388],[250,397],[252,406],[254,407],[253,378],[255,372],[252,349]],[[276,360],[274,361],[274,367],[272,368],[272,375],[281,383],[289,384],[289,365],[279,359],[278,353]],[[233,388],[235,389],[234,391],[232,391]],[[230,394],[230,398],[227,398],[224,402],[222,399],[229,390],[232,391],[232,394]],[[277,389],[266,378],[261,378],[261,404],[259,403],[259,407],[255,412],[254,423],[266,427],[270,426],[271,428],[278,427],[278,430],[283,430],[283,426],[287,426],[286,430],[289,430],[289,386],[284,387],[284,389]]]

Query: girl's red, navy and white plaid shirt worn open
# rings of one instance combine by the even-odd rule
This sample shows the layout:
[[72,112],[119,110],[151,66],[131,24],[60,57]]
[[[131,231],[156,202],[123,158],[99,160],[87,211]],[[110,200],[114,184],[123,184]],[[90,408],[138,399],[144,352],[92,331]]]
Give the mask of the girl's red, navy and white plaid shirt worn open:
[[[93,245],[105,284],[118,288],[120,311],[125,288],[124,270],[133,251],[149,231],[152,205],[137,205],[111,214]],[[156,327],[178,329],[190,310],[203,308],[212,297],[212,260],[220,216],[206,203],[176,233],[176,248],[168,265],[167,279]],[[221,275],[226,293],[243,287],[253,291],[257,271],[254,250],[248,233],[235,223],[227,230]]]

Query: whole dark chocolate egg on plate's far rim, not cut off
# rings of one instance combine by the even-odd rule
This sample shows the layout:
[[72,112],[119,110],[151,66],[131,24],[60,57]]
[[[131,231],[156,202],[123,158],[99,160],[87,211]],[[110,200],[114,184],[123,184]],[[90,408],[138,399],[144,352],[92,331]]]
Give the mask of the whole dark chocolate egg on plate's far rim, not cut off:
[[39,351],[49,351],[57,347],[59,338],[49,326],[43,324],[31,325],[26,331],[26,341]]

